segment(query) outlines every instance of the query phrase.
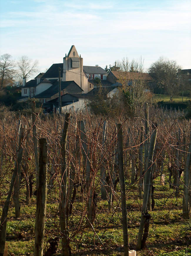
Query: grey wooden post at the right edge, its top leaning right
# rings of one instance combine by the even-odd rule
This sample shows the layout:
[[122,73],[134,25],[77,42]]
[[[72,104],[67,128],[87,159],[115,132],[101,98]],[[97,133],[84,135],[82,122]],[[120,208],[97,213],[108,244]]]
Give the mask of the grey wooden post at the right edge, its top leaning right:
[[182,215],[184,219],[189,219],[190,213],[190,187],[191,187],[191,129],[190,129],[190,144],[184,168],[184,195],[182,204]]

